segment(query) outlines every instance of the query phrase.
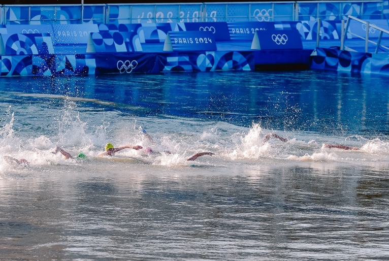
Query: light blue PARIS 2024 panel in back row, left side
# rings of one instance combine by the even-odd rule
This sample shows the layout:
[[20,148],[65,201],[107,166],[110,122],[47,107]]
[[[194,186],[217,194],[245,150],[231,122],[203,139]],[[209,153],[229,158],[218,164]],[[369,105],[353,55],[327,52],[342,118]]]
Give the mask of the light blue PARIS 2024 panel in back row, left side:
[[99,32],[97,24],[53,24],[53,43],[87,44],[90,32]]

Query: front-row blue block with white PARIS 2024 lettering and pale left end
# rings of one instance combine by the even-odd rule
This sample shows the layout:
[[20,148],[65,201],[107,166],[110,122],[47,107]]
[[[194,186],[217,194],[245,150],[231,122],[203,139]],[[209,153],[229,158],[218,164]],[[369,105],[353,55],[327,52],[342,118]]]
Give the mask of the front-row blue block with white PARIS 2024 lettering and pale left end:
[[164,51],[216,51],[216,41],[210,31],[170,31]]

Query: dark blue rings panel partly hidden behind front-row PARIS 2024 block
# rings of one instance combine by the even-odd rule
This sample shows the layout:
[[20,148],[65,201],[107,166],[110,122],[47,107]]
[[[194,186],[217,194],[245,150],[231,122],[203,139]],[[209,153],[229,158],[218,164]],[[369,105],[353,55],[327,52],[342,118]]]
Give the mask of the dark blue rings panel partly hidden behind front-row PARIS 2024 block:
[[230,41],[229,29],[226,22],[213,23],[184,23],[187,31],[210,31],[216,41]]

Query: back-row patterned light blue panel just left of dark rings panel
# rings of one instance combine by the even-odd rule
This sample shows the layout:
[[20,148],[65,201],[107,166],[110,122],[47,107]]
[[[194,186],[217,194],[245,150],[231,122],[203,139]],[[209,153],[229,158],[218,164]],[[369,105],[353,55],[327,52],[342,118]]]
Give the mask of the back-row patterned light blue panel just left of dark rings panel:
[[141,43],[164,43],[168,31],[173,31],[174,25],[173,23],[143,23],[137,30],[139,39]]

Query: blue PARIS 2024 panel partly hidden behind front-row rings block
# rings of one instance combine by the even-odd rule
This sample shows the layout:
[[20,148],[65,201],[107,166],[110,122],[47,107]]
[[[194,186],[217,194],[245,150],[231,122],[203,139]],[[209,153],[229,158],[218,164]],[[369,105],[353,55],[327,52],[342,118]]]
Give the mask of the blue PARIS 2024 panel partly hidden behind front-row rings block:
[[233,22],[227,25],[232,41],[252,41],[255,31],[274,29],[272,22]]

